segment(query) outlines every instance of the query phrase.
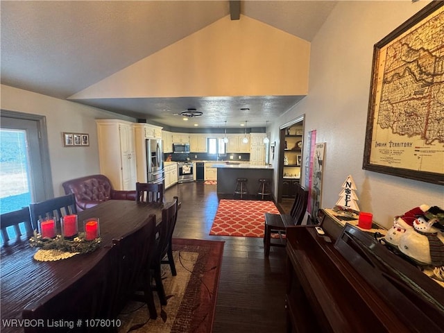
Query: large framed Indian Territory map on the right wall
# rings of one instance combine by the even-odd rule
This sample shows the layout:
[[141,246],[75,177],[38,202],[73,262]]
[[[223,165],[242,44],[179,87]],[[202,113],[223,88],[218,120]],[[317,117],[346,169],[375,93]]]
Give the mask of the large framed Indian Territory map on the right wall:
[[443,5],[374,46],[363,169],[444,185]]

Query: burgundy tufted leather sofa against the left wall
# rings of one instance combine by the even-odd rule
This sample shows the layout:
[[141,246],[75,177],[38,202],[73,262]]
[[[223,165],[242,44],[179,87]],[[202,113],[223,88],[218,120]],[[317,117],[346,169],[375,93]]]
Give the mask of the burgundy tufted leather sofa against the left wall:
[[94,207],[110,199],[136,200],[136,191],[117,191],[112,188],[108,177],[92,175],[68,180],[62,184],[65,194],[74,193],[77,210],[82,211]]

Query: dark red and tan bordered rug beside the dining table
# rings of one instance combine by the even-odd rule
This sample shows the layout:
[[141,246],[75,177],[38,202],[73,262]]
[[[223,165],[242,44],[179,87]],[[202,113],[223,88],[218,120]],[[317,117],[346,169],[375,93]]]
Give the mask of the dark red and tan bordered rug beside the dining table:
[[119,333],[210,333],[216,309],[216,296],[223,255],[223,241],[173,239],[177,275],[162,265],[162,284],[168,304],[154,300],[157,319],[149,318],[142,302],[129,302],[119,315]]

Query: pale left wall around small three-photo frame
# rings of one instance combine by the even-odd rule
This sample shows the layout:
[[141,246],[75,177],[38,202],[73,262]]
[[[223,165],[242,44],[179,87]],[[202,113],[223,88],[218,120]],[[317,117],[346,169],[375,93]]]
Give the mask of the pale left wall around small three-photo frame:
[[[1,85],[2,110],[39,114],[46,117],[54,196],[62,196],[62,182],[100,173],[96,121],[133,118],[90,108],[78,103]],[[62,132],[89,134],[88,147],[64,147]],[[119,149],[119,147],[116,147]]]

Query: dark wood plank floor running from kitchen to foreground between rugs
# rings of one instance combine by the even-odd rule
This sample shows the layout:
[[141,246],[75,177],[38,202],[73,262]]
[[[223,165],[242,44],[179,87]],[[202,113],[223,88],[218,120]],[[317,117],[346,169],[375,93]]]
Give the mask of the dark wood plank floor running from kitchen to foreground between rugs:
[[175,185],[165,193],[173,196],[182,202],[173,237],[225,241],[213,332],[285,332],[285,249],[266,258],[262,238],[210,236],[216,185]]

